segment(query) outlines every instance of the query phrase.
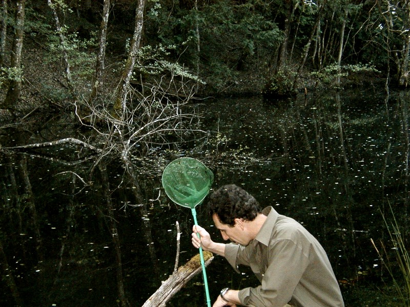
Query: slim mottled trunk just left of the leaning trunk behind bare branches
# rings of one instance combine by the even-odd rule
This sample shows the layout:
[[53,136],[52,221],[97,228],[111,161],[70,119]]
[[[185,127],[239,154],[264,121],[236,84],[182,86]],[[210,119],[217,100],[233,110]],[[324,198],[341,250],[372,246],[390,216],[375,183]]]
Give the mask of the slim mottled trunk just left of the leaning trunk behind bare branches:
[[103,8],[103,20],[101,20],[100,37],[99,37],[99,49],[97,55],[97,61],[95,64],[95,81],[93,84],[93,90],[91,92],[91,100],[94,100],[103,86],[103,75],[105,71],[105,56],[106,56],[106,41],[107,41],[107,28],[108,28],[108,16],[110,14],[110,0],[104,0]]

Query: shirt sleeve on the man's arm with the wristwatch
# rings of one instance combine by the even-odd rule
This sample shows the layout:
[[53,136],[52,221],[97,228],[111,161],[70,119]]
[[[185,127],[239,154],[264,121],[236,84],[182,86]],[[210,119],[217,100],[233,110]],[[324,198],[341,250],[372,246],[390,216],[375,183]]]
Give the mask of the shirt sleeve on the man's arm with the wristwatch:
[[278,240],[269,250],[268,267],[261,285],[240,290],[241,303],[245,306],[283,307],[291,300],[309,265],[309,251],[306,253],[290,239]]

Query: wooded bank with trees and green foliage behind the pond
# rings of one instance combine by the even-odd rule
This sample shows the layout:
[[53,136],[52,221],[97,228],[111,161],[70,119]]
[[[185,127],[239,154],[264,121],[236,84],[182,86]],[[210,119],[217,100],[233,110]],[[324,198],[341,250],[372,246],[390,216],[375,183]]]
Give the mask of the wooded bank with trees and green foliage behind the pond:
[[40,93],[43,106],[119,109],[130,88],[174,76],[198,96],[289,96],[340,77],[405,87],[409,16],[408,1],[383,0],[3,0],[1,104]]

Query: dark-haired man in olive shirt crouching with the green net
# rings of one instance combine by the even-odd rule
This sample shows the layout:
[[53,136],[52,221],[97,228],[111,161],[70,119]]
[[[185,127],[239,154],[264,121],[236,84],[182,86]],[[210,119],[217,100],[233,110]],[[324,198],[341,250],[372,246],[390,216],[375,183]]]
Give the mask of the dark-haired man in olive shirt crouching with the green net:
[[344,306],[325,251],[298,222],[273,207],[261,210],[255,198],[236,185],[216,190],[208,205],[222,238],[232,243],[215,243],[205,229],[194,226],[193,246],[225,257],[238,273],[238,265],[251,267],[261,282],[255,288],[223,289],[213,307]]

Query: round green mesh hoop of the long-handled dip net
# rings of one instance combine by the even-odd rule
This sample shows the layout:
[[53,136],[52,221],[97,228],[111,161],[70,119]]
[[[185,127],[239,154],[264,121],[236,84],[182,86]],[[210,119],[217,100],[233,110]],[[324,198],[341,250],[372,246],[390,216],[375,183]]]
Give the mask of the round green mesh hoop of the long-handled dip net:
[[162,186],[176,204],[188,208],[202,203],[214,181],[214,174],[193,158],[172,161],[162,173]]

